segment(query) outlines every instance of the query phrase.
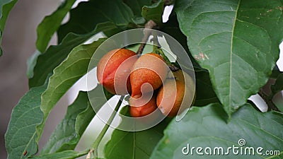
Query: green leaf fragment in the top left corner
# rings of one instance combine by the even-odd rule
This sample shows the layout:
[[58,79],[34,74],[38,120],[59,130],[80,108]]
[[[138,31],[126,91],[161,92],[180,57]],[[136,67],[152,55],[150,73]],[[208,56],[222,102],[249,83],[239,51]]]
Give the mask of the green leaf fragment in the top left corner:
[[1,39],[2,34],[4,32],[4,27],[6,20],[8,18],[8,13],[10,13],[13,6],[16,4],[18,0],[1,0],[0,1],[0,57],[2,55],[1,49]]

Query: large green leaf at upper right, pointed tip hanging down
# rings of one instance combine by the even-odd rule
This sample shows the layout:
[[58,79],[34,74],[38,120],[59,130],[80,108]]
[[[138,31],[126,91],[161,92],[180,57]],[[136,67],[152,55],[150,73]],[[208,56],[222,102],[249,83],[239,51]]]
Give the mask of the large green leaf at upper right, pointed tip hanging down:
[[190,52],[209,71],[229,116],[265,85],[275,66],[283,37],[282,6],[279,0],[175,3]]

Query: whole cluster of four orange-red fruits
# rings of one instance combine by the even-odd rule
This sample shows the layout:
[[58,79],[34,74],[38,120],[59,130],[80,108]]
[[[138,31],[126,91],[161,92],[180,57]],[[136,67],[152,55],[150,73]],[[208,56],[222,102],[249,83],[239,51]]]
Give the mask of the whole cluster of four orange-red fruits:
[[[110,93],[130,94],[129,112],[132,117],[143,117],[158,107],[161,112],[174,117],[182,103],[192,101],[187,73],[171,72],[164,59],[154,53],[139,55],[129,49],[114,49],[98,62],[98,82]],[[183,107],[184,108],[184,107]]]

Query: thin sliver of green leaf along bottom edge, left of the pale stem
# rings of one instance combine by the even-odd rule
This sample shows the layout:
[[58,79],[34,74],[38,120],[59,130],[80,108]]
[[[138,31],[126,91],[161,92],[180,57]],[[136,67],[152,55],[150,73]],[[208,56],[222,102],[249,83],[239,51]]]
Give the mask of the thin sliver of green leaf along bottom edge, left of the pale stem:
[[62,151],[59,153],[49,153],[45,155],[33,156],[32,159],[50,159],[50,158],[60,158],[60,159],[70,159],[70,158],[79,158],[83,155],[86,155],[88,151]]

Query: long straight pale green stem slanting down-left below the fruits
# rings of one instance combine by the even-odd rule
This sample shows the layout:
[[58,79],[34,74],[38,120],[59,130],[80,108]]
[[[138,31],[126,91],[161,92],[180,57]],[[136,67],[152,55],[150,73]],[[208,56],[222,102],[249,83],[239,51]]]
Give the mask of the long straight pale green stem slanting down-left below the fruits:
[[100,134],[98,134],[96,141],[94,141],[94,143],[91,146],[91,150],[89,151],[89,153],[96,153],[96,154],[93,154],[95,157],[98,157],[98,145],[99,145],[100,141],[103,139],[103,136],[105,135],[106,131],[108,130],[113,119],[115,118],[116,112],[118,112],[118,110],[119,110],[119,108],[122,104],[122,101],[124,100],[124,97],[125,97],[125,95],[121,95],[120,100],[117,102],[115,110],[112,112],[110,118],[108,119],[108,122],[107,122],[108,124],[105,124],[105,126],[103,127]]

